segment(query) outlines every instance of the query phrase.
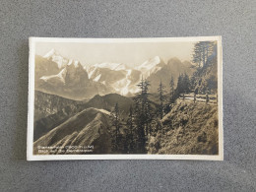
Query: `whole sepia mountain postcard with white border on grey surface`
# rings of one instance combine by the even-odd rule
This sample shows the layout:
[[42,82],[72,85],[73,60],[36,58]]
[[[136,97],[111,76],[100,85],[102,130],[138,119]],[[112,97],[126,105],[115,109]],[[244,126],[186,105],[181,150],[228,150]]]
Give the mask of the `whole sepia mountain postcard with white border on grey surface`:
[[223,160],[221,36],[30,38],[28,160]]

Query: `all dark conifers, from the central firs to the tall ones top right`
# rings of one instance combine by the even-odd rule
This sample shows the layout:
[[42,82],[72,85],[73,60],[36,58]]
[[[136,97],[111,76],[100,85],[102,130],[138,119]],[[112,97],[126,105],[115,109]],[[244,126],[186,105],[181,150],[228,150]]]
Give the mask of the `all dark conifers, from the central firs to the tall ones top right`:
[[192,61],[197,70],[189,77],[186,73],[179,74],[176,85],[170,77],[168,89],[162,84],[158,89],[158,105],[154,107],[149,93],[151,84],[141,79],[137,87],[140,92],[134,96],[133,105],[129,108],[128,117],[124,120],[118,103],[111,112],[112,120],[112,152],[117,154],[146,154],[147,143],[151,135],[161,129],[160,119],[173,107],[175,100],[183,94],[198,94],[198,85],[203,71],[213,63],[211,57],[216,54],[216,44],[211,41],[195,43]]

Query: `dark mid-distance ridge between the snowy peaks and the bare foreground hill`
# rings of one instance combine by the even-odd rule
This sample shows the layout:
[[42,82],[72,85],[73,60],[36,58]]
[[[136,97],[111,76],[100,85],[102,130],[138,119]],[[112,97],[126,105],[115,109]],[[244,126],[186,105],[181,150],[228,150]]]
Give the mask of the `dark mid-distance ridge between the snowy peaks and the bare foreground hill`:
[[[34,141],[84,109],[95,108],[110,114],[118,102],[120,112],[127,115],[133,104],[132,98],[118,94],[96,95],[87,101],[77,101],[35,91],[34,98]],[[156,108],[155,103],[152,105]]]

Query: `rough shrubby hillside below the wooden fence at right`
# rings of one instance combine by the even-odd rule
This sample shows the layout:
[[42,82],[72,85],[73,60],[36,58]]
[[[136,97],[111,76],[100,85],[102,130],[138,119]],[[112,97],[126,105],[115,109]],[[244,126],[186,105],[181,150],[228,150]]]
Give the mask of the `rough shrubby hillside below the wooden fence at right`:
[[218,106],[177,100],[149,142],[149,154],[218,154]]

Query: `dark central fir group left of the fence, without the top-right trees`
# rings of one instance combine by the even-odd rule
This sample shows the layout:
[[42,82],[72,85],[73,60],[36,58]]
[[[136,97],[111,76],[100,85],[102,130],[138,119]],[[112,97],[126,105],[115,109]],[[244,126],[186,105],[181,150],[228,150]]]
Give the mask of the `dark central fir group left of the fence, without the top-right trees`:
[[[149,137],[160,130],[160,119],[171,110],[173,103],[180,93],[189,92],[190,82],[187,74],[180,74],[177,86],[174,87],[173,77],[170,78],[169,92],[160,81],[158,89],[159,104],[157,108],[149,99],[150,82],[142,79],[137,85],[140,92],[134,96],[133,105],[129,108],[126,120],[121,117],[118,103],[111,112],[112,120],[112,152],[125,154],[147,153],[147,142]],[[169,94],[167,94],[169,93]],[[122,131],[122,133],[121,133]]]

